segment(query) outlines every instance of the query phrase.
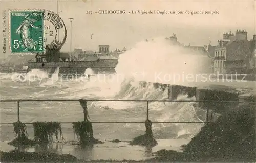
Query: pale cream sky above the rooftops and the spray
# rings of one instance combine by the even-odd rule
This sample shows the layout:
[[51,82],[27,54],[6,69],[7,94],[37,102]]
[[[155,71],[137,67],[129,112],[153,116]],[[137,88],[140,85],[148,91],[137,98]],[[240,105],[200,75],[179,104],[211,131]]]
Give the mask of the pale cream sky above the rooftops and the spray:
[[[46,9],[55,13],[65,22],[67,39],[61,51],[70,51],[70,21],[72,21],[72,49],[98,50],[99,44],[110,45],[110,50],[132,48],[137,42],[155,37],[171,36],[175,33],[178,41],[185,45],[216,45],[224,32],[244,29],[250,40],[256,34],[256,1],[29,1],[0,0],[0,17],[3,11]],[[145,11],[219,11],[219,14],[87,14],[86,11],[132,10]],[[7,19],[8,15],[7,15]],[[2,23],[0,25],[2,29]],[[1,30],[2,32],[2,30]],[[2,33],[0,33],[2,36]],[[91,35],[93,37],[91,38]],[[3,43],[0,42],[1,56]]]

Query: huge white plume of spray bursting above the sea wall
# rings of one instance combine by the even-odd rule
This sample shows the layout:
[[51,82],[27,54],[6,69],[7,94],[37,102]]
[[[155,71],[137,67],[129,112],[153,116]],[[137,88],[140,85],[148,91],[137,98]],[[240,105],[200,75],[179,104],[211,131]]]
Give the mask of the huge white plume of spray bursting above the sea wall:
[[[138,81],[182,84],[188,74],[209,67],[209,59],[183,46],[170,45],[164,38],[142,41],[119,56],[116,72]],[[176,79],[175,79],[176,78]]]

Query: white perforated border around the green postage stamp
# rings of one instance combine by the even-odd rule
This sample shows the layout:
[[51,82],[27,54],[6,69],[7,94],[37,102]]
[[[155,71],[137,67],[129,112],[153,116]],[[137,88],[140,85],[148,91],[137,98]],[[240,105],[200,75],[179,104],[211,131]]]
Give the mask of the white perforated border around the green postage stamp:
[[[27,10],[18,10],[18,9],[9,9],[9,31],[8,31],[8,35],[9,35],[9,48],[10,48],[10,53],[12,54],[18,54],[18,55],[34,55],[33,52],[12,52],[12,47],[11,47],[11,12],[38,12],[38,11],[44,11],[43,9],[27,9]],[[43,21],[43,23],[45,24],[45,22]],[[44,25],[42,26],[44,28]],[[45,29],[43,29],[45,30]]]

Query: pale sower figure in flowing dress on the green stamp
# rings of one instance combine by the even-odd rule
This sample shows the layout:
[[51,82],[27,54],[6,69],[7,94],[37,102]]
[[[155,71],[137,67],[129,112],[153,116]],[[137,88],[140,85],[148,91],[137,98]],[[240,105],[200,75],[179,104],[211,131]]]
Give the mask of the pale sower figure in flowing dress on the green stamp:
[[36,20],[29,18],[29,15],[26,14],[25,16],[25,20],[22,22],[22,24],[17,28],[16,33],[20,34],[22,36],[22,41],[23,41],[23,48],[24,51],[27,50],[27,48],[29,49],[34,49],[36,50],[36,45],[37,45],[37,41],[33,40],[30,36],[30,28],[35,28],[38,29],[39,27],[36,27],[34,24]]

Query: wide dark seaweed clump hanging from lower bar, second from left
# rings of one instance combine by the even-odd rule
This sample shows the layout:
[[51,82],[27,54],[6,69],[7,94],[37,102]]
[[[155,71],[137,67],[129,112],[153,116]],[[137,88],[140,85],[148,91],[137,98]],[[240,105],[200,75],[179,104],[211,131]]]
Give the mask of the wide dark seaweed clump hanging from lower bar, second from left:
[[58,133],[63,140],[61,124],[58,122],[34,122],[34,136],[38,143],[53,142],[53,136],[58,140]]

